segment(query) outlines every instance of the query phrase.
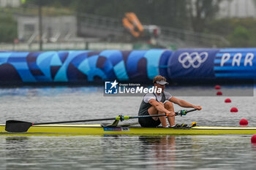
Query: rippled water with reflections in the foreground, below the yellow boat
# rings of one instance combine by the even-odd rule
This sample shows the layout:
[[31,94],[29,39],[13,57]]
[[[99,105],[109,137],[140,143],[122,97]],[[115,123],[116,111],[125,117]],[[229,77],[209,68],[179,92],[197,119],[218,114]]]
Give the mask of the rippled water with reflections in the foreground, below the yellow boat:
[[250,136],[1,136],[6,169],[255,167]]

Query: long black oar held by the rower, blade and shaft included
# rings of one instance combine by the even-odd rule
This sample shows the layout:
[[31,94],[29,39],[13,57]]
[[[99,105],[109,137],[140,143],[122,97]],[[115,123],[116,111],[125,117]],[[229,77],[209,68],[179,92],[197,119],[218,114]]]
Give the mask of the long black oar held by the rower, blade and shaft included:
[[[180,110],[175,112],[176,115],[187,115],[188,112],[193,112],[197,109],[191,110]],[[129,120],[135,118],[143,118],[143,117],[161,117],[161,116],[168,116],[168,115],[142,115],[142,116],[124,116],[120,115],[118,117],[112,118],[101,118],[101,119],[86,119],[86,120],[72,120],[72,121],[61,121],[61,122],[47,122],[47,123],[30,123],[24,122],[20,120],[7,120],[5,125],[5,131],[9,132],[26,132],[32,125],[46,125],[46,124],[59,124],[59,123],[78,123],[78,122],[92,122],[92,121],[101,121],[101,120]]]

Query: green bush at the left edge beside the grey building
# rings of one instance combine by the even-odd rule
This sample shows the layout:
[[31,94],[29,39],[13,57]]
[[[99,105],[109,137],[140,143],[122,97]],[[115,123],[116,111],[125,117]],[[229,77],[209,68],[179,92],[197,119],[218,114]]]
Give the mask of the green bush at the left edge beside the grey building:
[[13,42],[17,38],[17,23],[10,15],[0,15],[0,42]]

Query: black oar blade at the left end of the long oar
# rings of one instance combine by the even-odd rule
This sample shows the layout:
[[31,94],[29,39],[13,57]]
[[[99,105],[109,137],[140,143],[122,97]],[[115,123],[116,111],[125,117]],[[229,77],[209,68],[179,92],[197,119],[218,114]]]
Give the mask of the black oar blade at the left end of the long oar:
[[31,127],[32,123],[23,122],[19,120],[7,120],[5,124],[5,131],[9,132],[26,132]]

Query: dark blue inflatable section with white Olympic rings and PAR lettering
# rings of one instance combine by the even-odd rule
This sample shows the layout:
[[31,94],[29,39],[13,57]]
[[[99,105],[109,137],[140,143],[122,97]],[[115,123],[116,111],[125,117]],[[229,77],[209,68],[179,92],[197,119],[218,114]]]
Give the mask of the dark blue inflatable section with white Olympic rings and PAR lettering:
[[255,55],[256,48],[177,50],[169,58],[167,74],[174,82],[255,80]]

